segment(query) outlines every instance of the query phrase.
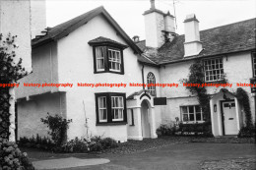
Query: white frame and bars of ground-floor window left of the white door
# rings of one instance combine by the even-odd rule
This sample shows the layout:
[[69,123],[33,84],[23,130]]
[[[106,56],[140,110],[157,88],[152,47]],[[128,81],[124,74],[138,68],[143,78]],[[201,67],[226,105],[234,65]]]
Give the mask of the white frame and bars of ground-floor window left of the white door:
[[[188,120],[189,120],[189,116],[190,116],[190,114],[191,113],[189,113],[189,107],[193,107],[193,114],[194,114],[194,121],[184,121],[183,120],[183,114],[187,114],[188,115]],[[200,105],[198,105],[198,104],[196,104],[196,105],[181,105],[180,107],[179,107],[179,109],[180,109],[180,120],[181,120],[181,122],[183,123],[183,124],[194,124],[194,123],[204,123],[205,122],[205,120],[204,120],[204,113],[203,113],[203,110],[202,110],[202,108],[200,107],[200,113],[201,113],[201,120],[200,121],[197,121],[196,120],[196,115],[197,115],[197,113],[198,112],[196,112],[196,106],[199,106],[200,107]],[[183,113],[183,111],[182,111],[182,107],[187,107],[187,113]]]

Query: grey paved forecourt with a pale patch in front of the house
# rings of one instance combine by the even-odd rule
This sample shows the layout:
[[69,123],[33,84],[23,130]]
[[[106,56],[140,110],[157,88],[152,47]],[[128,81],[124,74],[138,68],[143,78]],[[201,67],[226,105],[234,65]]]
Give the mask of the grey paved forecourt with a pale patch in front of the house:
[[[254,159],[255,150],[255,143],[190,142],[129,154],[101,154],[95,159],[71,157],[32,163],[36,169],[199,170],[206,161]],[[256,169],[255,164],[252,166],[252,170]]]

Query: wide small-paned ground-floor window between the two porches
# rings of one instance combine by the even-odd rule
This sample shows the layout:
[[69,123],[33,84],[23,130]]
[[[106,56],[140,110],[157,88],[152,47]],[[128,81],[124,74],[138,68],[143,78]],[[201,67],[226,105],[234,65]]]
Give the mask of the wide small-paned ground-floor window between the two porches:
[[202,109],[199,105],[181,106],[181,120],[187,123],[203,121]]

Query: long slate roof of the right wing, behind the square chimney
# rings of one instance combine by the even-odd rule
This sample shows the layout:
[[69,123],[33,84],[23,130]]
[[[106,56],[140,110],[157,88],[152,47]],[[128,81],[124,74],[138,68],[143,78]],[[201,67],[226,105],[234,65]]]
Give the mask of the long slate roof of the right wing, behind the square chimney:
[[[148,52],[148,57],[157,65],[191,60],[197,57],[216,56],[255,49],[256,19],[246,20],[218,28],[200,31],[204,50],[197,56],[184,58],[184,34],[177,35],[171,42],[164,43],[156,53]],[[145,41],[137,42],[147,53]]]

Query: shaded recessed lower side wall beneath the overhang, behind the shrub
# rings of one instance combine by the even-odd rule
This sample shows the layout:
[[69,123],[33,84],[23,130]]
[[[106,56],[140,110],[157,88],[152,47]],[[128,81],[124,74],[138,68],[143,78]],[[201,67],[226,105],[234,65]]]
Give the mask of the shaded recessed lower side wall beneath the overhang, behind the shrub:
[[59,114],[66,117],[65,94],[52,93],[33,97],[30,101],[18,102],[18,139],[21,137],[31,138],[38,134],[46,137],[49,129],[40,119],[45,118],[47,113],[54,116]]

